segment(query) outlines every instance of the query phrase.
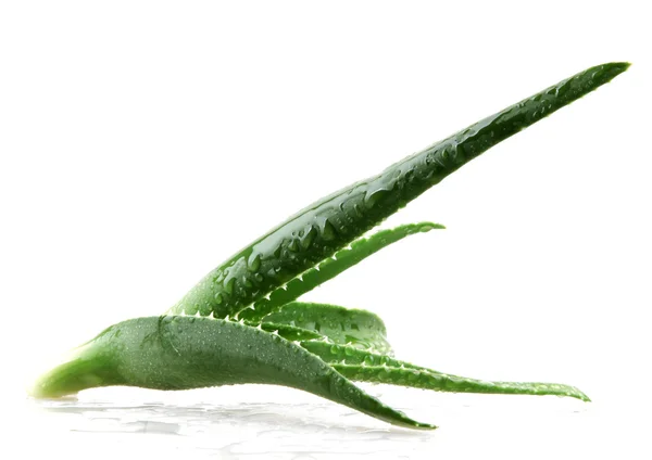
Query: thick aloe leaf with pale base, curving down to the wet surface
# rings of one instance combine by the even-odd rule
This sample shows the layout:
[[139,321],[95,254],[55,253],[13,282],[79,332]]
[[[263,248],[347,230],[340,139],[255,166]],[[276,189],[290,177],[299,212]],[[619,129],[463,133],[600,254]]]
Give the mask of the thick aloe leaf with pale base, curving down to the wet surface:
[[385,406],[279,335],[210,318],[163,316],[104,330],[35,386],[38,397],[126,385],[155,389],[264,383],[303,389],[399,426],[432,429]]

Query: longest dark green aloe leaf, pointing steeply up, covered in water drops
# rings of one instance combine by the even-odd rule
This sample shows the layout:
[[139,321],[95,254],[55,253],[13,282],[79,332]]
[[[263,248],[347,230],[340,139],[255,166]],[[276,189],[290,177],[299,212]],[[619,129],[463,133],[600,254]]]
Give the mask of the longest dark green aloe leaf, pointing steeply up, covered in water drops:
[[330,257],[491,146],[611,81],[627,67],[629,64],[624,62],[590,67],[408,156],[377,176],[316,201],[208,273],[170,312],[234,317]]

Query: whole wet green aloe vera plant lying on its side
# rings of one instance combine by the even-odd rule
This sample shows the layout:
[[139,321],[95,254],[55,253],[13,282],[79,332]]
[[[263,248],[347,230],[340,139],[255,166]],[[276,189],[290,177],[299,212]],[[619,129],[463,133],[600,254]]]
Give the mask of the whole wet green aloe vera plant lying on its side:
[[591,67],[313,203],[208,273],[163,316],[111,325],[78,347],[35,384],[34,396],[108,385],[185,389],[266,383],[413,429],[435,426],[384,405],[352,381],[589,400],[568,385],[488,382],[396,359],[376,315],[299,298],[389,244],[442,229],[422,222],[363,238],[471,159],[628,66]]

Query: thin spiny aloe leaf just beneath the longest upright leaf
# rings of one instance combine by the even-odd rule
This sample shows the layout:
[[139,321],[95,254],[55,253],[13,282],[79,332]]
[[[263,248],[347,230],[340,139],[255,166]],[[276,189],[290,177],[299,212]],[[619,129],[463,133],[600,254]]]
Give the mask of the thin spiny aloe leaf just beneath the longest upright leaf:
[[368,238],[361,238],[351,243],[350,247],[337,252],[333,257],[302,273],[301,277],[294,278],[283,288],[272,292],[268,298],[262,298],[240,311],[237,317],[250,321],[261,320],[265,315],[296,301],[301,295],[334,279],[381,248],[411,234],[443,228],[443,226],[432,222],[406,223],[393,229],[380,230]]

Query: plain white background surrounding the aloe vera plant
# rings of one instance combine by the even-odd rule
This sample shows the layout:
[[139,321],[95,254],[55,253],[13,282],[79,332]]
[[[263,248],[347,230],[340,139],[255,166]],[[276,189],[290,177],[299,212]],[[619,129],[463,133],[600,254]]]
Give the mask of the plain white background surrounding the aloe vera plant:
[[[46,413],[24,387],[104,327],[163,312],[312,201],[586,67],[630,61],[384,223],[447,230],[309,295],[379,314],[412,362],[569,383],[593,403],[389,388],[386,400],[441,426],[410,438],[363,416],[343,430],[351,422],[339,414],[351,411],[314,398],[294,416],[330,421],[318,447],[299,426],[286,451],[234,416],[241,446],[229,458],[329,458],[341,433],[360,458],[650,458],[644,2],[446,3],[1,4],[1,385],[14,409],[5,422],[22,421],[9,437],[25,456],[128,457],[163,445],[174,457],[184,436],[116,444],[120,434],[88,418],[92,440],[71,436],[82,416]],[[276,389],[189,393],[177,406],[303,397]],[[126,397],[138,400],[135,392]],[[111,407],[125,396],[86,397]],[[265,423],[283,429],[268,407]],[[223,444],[220,422],[208,426]],[[367,439],[367,429],[385,437]],[[186,458],[220,453],[202,443]]]

